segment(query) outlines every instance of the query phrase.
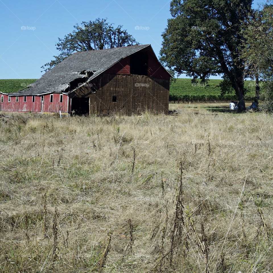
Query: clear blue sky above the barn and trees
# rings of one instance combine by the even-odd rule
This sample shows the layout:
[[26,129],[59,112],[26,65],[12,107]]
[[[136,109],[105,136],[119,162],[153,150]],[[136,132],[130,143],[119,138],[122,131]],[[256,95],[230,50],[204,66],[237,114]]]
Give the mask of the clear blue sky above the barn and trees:
[[107,17],[109,23],[123,25],[139,43],[151,44],[158,56],[170,2],[0,0],[0,78],[40,78],[40,67],[58,55],[58,37],[71,32],[76,23],[96,18]]

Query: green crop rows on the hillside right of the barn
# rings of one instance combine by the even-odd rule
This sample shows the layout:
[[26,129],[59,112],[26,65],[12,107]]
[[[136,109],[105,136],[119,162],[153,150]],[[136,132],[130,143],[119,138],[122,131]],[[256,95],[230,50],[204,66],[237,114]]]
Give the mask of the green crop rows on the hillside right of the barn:
[[[237,100],[235,92],[221,95],[220,83],[222,80],[209,80],[207,84],[192,84],[191,79],[177,79],[171,82],[170,86],[170,101],[183,102],[213,102],[213,101],[230,101]],[[247,101],[253,100],[255,96],[255,82],[245,81],[245,99]]]

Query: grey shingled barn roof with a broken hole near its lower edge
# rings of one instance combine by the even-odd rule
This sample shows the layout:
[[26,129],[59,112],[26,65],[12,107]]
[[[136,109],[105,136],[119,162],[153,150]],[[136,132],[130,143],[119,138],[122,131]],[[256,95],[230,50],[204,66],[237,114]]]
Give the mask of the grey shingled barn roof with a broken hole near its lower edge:
[[[40,79],[11,96],[67,93],[72,83],[84,83],[106,71],[121,59],[150,45],[116,47],[76,52],[57,64]],[[152,48],[152,47],[151,47]]]

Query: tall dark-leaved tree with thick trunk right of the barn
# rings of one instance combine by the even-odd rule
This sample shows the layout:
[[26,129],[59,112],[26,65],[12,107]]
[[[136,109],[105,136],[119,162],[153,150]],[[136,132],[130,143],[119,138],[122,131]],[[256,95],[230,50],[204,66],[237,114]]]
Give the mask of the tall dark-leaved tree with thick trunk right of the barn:
[[162,62],[178,75],[203,81],[222,75],[235,90],[239,112],[245,110],[239,46],[251,5],[252,0],[173,0],[172,18],[162,34]]

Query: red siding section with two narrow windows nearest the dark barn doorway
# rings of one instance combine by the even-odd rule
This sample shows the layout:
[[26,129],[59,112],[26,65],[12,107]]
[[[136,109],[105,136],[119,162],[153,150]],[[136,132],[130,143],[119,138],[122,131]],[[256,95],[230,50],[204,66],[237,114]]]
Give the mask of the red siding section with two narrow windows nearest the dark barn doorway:
[[[50,102],[50,95],[53,95],[53,102]],[[43,112],[46,113],[67,113],[68,96],[63,95],[63,102],[60,102],[60,94],[47,94],[44,96]]]

